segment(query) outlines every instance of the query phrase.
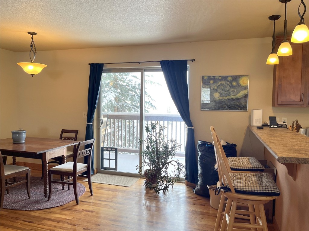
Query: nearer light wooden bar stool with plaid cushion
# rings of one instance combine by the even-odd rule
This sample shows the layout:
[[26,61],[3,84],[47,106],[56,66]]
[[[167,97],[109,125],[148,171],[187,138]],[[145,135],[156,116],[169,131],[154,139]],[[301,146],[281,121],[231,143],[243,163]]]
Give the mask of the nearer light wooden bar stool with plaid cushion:
[[[226,225],[227,231],[235,227],[268,230],[264,204],[280,195],[273,177],[269,173],[232,172],[230,166],[224,161],[225,153],[218,135],[213,127],[210,129],[218,164],[218,191],[227,198],[220,230],[225,230]],[[249,205],[249,211],[236,210],[239,203]],[[224,198],[221,197],[217,214],[219,222],[222,217],[223,205]],[[235,217],[250,219],[250,224],[235,222]],[[216,227],[215,230],[217,231]]]

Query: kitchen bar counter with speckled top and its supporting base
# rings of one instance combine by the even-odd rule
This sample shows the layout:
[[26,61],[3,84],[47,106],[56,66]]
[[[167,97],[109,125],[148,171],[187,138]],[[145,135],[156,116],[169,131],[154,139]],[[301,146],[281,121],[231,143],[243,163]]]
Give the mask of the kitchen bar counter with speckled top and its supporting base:
[[276,198],[273,223],[280,231],[309,230],[309,137],[286,128],[257,129],[249,125],[247,129],[263,144],[264,160],[277,172],[280,196]]

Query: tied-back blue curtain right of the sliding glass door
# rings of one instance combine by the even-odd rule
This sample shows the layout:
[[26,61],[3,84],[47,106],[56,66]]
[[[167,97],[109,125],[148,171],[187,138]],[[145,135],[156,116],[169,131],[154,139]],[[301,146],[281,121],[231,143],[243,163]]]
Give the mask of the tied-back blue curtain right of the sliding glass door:
[[194,130],[190,120],[187,69],[188,60],[160,61],[168,91],[171,94],[181,118],[188,126],[187,142],[185,148],[186,177],[188,182],[196,184],[197,157],[195,154]]

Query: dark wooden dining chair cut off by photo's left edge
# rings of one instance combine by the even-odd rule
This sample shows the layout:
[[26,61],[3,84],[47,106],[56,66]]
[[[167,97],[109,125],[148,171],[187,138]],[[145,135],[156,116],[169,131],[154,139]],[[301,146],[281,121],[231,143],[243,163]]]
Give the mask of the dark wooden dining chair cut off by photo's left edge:
[[[31,175],[31,169],[24,166],[18,166],[18,165],[11,165],[11,164],[4,164],[2,155],[0,152],[0,209],[2,209],[3,201],[4,201],[4,193],[6,191],[7,194],[9,194],[9,188],[14,187],[19,184],[26,183],[27,193],[28,197],[31,198],[30,195],[30,175]],[[19,182],[10,182],[9,179],[17,176],[21,176],[26,174],[26,179],[19,181]]]

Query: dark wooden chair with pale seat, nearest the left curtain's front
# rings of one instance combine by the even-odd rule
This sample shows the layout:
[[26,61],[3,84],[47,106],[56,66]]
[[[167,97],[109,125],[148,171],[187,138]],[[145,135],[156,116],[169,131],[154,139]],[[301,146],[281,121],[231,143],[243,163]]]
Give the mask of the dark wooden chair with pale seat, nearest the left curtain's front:
[[[48,170],[49,178],[49,195],[48,201],[50,200],[53,192],[53,183],[58,184],[67,184],[68,190],[70,190],[70,185],[73,185],[74,196],[76,204],[79,204],[78,195],[77,195],[77,176],[78,174],[87,171],[88,172],[88,185],[91,196],[92,193],[92,184],[91,184],[91,153],[95,139],[86,140],[79,142],[73,154],[73,162],[66,162],[55,166]],[[84,156],[88,156],[87,164],[78,163],[78,159]],[[53,180],[53,175],[67,176],[67,180]],[[61,177],[62,179],[62,177]]]

